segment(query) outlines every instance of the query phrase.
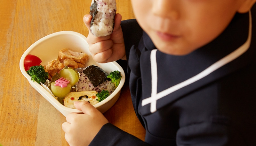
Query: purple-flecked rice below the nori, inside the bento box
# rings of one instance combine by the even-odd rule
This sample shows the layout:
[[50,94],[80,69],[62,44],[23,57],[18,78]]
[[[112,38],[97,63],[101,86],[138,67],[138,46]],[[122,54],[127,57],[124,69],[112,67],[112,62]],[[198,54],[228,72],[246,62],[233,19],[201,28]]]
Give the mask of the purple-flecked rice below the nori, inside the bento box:
[[105,81],[102,84],[94,87],[88,77],[82,72],[79,81],[76,83],[77,91],[97,91],[108,90],[109,95],[114,92],[115,85],[111,81]]

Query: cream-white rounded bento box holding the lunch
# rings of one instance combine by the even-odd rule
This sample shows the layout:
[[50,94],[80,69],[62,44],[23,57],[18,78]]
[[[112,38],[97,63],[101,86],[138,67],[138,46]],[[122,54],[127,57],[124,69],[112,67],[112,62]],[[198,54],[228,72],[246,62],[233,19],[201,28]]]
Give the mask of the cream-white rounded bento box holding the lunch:
[[[80,33],[72,31],[61,31],[57,33],[52,33],[43,37],[42,39],[36,41],[32,44],[21,56],[20,59],[20,71],[28,79],[28,82],[33,88],[36,89],[46,100],[48,100],[57,110],[60,111],[64,116],[67,116],[69,113],[81,113],[77,109],[68,108],[63,106],[58,100],[56,100],[48,91],[46,91],[40,84],[37,82],[31,81],[31,77],[27,74],[24,69],[24,59],[26,55],[36,55],[42,60],[42,65],[48,64],[48,62],[56,59],[60,49],[69,48],[73,51],[83,52],[89,55],[89,60],[86,63],[86,66],[97,65],[100,68],[104,69],[107,73],[110,73],[114,70],[119,70],[121,72],[122,78],[121,82],[116,88],[116,90],[106,99],[94,105],[101,113],[106,112],[111,106],[113,106],[116,100],[120,96],[121,88],[124,85],[125,74],[122,67],[116,62],[108,63],[98,63],[92,59],[92,55],[89,52],[89,45],[86,42],[86,37]],[[26,97],[24,97],[26,98]],[[28,97],[29,98],[29,97]]]

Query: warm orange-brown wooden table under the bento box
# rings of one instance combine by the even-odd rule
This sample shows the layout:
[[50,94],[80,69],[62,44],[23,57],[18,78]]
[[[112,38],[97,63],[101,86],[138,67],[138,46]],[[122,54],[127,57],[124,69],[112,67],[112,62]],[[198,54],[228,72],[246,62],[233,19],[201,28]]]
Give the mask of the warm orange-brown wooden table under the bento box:
[[[122,19],[134,18],[130,0],[116,0]],[[23,77],[19,62],[36,40],[59,31],[87,36],[83,16],[90,0],[0,1],[0,144],[68,145],[61,125],[66,118]],[[137,119],[128,85],[104,115],[110,123],[144,140],[145,129]]]

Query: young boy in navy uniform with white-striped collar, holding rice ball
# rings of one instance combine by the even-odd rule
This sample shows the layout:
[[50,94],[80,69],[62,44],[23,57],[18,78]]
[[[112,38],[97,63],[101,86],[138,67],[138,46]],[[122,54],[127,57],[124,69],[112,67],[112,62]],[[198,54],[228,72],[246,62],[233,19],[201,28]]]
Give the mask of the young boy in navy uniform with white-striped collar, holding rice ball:
[[89,33],[87,41],[97,62],[127,60],[145,142],[86,102],[75,104],[84,114],[62,125],[67,142],[256,145],[255,1],[132,0],[136,20],[121,23],[116,14],[110,36]]

